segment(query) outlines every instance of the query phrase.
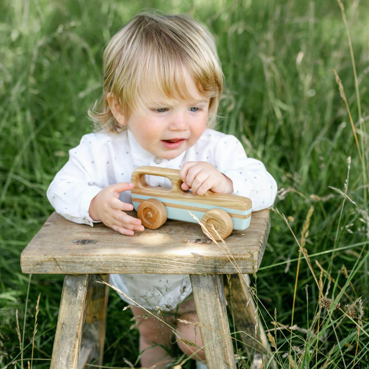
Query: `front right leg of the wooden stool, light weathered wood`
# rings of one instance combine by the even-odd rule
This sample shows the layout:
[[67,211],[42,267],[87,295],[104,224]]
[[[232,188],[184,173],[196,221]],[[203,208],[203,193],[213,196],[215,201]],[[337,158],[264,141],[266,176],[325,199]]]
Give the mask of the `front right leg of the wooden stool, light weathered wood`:
[[208,369],[236,369],[227,309],[223,275],[190,275],[201,339]]

